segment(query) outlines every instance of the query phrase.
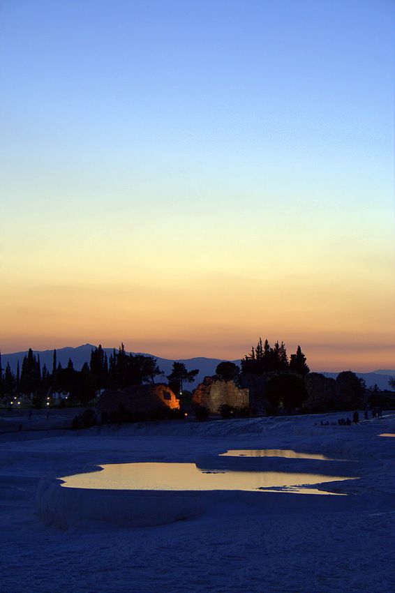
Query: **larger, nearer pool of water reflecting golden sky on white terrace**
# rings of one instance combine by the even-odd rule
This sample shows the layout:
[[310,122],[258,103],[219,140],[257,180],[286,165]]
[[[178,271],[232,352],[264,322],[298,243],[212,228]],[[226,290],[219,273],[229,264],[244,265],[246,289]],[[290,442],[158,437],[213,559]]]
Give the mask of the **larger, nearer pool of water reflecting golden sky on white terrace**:
[[347,476],[290,472],[200,470],[195,463],[113,463],[102,470],[61,478],[64,488],[101,490],[247,490],[334,494],[307,486],[343,481]]

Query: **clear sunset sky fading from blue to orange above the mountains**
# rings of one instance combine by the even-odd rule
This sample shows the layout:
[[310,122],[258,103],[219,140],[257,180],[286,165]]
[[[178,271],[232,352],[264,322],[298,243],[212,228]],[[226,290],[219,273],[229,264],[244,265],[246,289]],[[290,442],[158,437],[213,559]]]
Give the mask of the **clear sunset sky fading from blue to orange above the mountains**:
[[391,0],[3,0],[1,352],[395,368]]

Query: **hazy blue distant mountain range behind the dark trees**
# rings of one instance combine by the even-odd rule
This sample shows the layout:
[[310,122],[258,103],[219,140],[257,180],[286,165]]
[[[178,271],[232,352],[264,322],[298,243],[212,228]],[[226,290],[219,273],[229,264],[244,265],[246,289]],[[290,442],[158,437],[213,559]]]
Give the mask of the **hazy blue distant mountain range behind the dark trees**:
[[[74,368],[80,370],[82,365],[85,362],[89,362],[91,359],[91,350],[94,349],[96,346],[92,344],[84,344],[82,346],[78,346],[76,348],[66,347],[66,348],[59,348],[57,350],[57,361],[61,363],[61,366],[67,366],[68,359],[71,359],[74,364]],[[112,348],[103,348],[105,352],[107,352],[107,356],[110,358],[110,354],[112,354]],[[53,350],[42,350],[42,351],[35,351],[34,354],[36,356],[40,355],[40,363],[41,368],[43,364],[47,366],[48,370],[52,370],[52,355]],[[24,356],[27,354],[26,351],[24,352],[13,352],[12,354],[2,354],[1,355],[1,366],[6,368],[7,363],[10,363],[11,370],[13,373],[16,373],[17,370],[17,362],[19,361],[20,367],[22,368],[22,361]],[[147,354],[145,352],[133,352],[132,354],[144,354],[144,356],[153,356],[153,354]],[[170,375],[172,370],[172,363],[174,360],[170,359],[162,359],[159,356],[154,356],[158,360],[158,366],[165,375]],[[214,375],[216,371],[216,366],[222,360],[225,359],[208,359],[204,358],[203,356],[198,356],[192,359],[177,359],[179,362],[183,362],[188,370],[193,370],[194,368],[199,369],[199,373],[196,376],[196,379],[193,383],[190,384],[189,388],[194,389],[198,383],[202,382],[204,377],[207,375]],[[232,361],[235,364],[240,364],[240,359]],[[327,373],[327,371],[318,371],[325,375],[326,377],[333,377],[336,378],[338,373]],[[394,369],[378,369],[373,370],[371,373],[355,373],[358,377],[363,379],[366,382],[366,386],[373,387],[374,384],[377,384],[380,389],[388,389],[388,380],[389,377],[395,377],[395,370]],[[157,378],[159,382],[161,377]],[[163,380],[166,380],[163,377]]]

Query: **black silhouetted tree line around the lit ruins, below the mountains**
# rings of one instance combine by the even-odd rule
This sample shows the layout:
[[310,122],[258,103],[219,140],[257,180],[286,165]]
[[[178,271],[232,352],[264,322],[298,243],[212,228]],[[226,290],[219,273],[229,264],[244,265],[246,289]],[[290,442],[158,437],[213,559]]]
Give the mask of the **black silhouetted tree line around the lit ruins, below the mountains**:
[[[304,377],[308,375],[306,356],[298,345],[295,354],[288,353],[283,342],[278,341],[271,346],[266,339],[259,338],[255,347],[251,348],[240,361],[240,367],[229,361],[223,361],[216,368],[216,378],[219,380],[234,380],[239,386],[252,389],[263,380],[267,401],[276,409],[278,405],[295,409],[303,405],[307,398]],[[174,361],[167,382],[180,400],[191,398],[191,392],[185,389],[198,375],[199,370],[187,370],[184,363]],[[343,377],[344,375],[344,377]],[[341,385],[345,383],[345,375],[352,375],[352,389]],[[0,354],[0,395],[14,396],[26,394],[33,396],[33,403],[40,405],[45,397],[55,393],[68,393],[71,401],[88,403],[103,389],[123,389],[131,385],[154,383],[158,377],[165,379],[165,373],[158,367],[157,359],[142,354],[128,354],[124,344],[112,350],[110,356],[101,345],[91,350],[89,362],[85,362],[81,370],[76,370],[71,359],[65,367],[57,360],[57,351],[52,356],[52,368],[45,364],[41,367],[40,355],[33,354],[31,348],[24,356],[22,366],[18,361],[14,374],[8,362],[3,370]],[[255,377],[255,378],[254,378]],[[267,378],[269,377],[269,380]],[[342,378],[343,377],[343,378]],[[341,380],[342,379],[342,380]],[[258,384],[257,384],[258,381]],[[349,400],[348,391],[355,392],[355,398],[360,398],[364,386],[354,373],[348,371],[338,377],[338,391],[340,400]],[[355,385],[354,385],[355,384]],[[395,380],[390,380],[390,386],[395,388]],[[344,393],[343,393],[344,391]],[[374,391],[374,398],[379,396]],[[347,392],[347,393],[346,393]],[[358,392],[358,393],[357,393]],[[372,396],[372,397],[373,397]]]

